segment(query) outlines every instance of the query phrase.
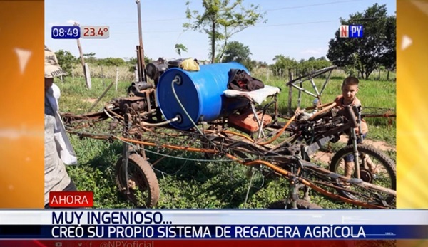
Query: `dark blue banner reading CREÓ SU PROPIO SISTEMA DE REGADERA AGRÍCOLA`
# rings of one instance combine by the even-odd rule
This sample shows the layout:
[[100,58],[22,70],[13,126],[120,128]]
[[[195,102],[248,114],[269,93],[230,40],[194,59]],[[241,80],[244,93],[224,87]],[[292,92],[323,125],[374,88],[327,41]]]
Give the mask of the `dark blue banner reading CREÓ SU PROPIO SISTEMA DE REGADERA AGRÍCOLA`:
[[3,239],[427,239],[426,225],[1,225]]

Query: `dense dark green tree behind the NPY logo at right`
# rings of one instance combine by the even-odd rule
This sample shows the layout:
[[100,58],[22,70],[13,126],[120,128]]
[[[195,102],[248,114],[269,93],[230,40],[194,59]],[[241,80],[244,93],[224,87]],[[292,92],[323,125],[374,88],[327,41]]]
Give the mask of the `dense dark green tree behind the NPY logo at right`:
[[[395,23],[395,16],[387,16],[386,5],[374,4],[364,11],[350,14],[348,20],[340,19],[342,25],[362,25],[362,38],[335,38],[329,42],[327,58],[340,67],[354,66],[363,78],[369,78],[374,69],[387,61],[391,51],[387,41],[387,24]],[[392,23],[391,23],[392,25]],[[395,59],[395,58],[394,58]]]

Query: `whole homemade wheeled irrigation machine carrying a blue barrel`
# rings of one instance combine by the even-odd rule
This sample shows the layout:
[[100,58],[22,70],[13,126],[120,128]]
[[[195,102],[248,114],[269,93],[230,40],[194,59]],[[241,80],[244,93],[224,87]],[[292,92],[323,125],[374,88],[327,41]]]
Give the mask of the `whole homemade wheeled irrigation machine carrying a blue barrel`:
[[[138,206],[155,207],[160,196],[152,167],[158,161],[146,158],[146,150],[151,148],[159,153],[167,153],[168,149],[205,153],[205,159],[213,162],[230,159],[230,163],[260,169],[266,177],[284,177],[290,184],[285,206],[294,209],[319,208],[310,203],[309,195],[314,191],[362,208],[395,208],[394,162],[373,147],[357,144],[355,127],[365,117],[361,108],[337,111],[335,104],[320,103],[335,67],[285,83],[289,90],[299,90],[297,109],[285,116],[278,110],[278,95],[283,93],[280,88],[265,85],[253,91],[228,89],[230,70],[249,73],[240,63],[200,65],[198,71],[159,61],[145,65],[141,37],[137,55],[139,80],[131,83],[128,97],[113,99],[97,112],[63,114],[63,120],[71,135],[123,142],[116,182],[118,189]],[[317,90],[313,79],[320,75],[326,80]],[[307,80],[315,94],[303,88]],[[314,104],[300,107],[301,93],[312,95]],[[108,131],[98,134],[99,130]],[[350,135],[354,142],[335,152],[330,164],[311,159],[312,154],[328,142],[337,142],[342,134]],[[180,144],[171,143],[171,138]],[[347,155],[354,157],[351,177],[343,173]]]

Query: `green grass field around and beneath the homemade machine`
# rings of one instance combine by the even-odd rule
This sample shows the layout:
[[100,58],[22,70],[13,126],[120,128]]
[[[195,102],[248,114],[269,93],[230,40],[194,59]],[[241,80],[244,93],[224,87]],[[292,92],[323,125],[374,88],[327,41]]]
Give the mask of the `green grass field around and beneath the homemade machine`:
[[[259,77],[267,85],[282,88],[280,95],[280,110],[287,110],[288,90],[285,80]],[[334,77],[325,88],[322,102],[332,101],[340,94],[340,84],[343,78]],[[92,89],[88,90],[82,78],[65,78],[64,82],[56,81],[61,88],[61,112],[81,114],[91,107],[93,99],[101,95],[106,86],[113,80],[104,79],[104,84],[97,78],[92,78]],[[309,82],[306,82],[309,83]],[[318,88],[323,80],[316,80]],[[129,81],[119,81],[118,90],[115,87],[108,91],[103,100],[93,111],[100,110],[103,104],[112,98],[126,96]],[[304,85],[308,88],[308,85]],[[293,98],[297,99],[297,90]],[[362,80],[360,92],[357,95],[364,107],[395,108],[395,83],[382,80]],[[92,99],[92,100],[90,100]],[[310,106],[312,98],[303,95],[302,106]],[[297,100],[293,100],[293,107]],[[368,139],[384,141],[395,147],[395,120],[367,119],[370,128]],[[69,174],[79,190],[94,192],[94,207],[103,209],[133,208],[123,199],[115,184],[114,164],[121,157],[121,142],[105,142],[101,140],[79,139],[71,136],[71,142],[78,155],[77,166],[67,167]],[[333,152],[340,145],[335,144]],[[395,159],[395,152],[388,152]],[[164,209],[225,209],[225,208],[266,208],[273,201],[284,199],[287,195],[288,182],[284,179],[268,181],[256,173],[250,184],[248,169],[233,162],[211,162],[205,160],[203,154],[187,154],[175,152],[170,155],[198,159],[189,162],[182,159],[166,158],[156,164],[156,175],[161,188],[161,198],[158,208]],[[148,153],[151,160],[158,155]],[[250,189],[249,189],[250,188]],[[328,209],[352,208],[349,204],[338,203],[318,194],[312,194],[312,202]]]

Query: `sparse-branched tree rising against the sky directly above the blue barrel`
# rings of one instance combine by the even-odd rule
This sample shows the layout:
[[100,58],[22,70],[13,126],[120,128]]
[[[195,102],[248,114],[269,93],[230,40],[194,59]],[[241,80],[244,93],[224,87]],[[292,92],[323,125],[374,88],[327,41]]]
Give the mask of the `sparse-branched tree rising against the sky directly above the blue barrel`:
[[[223,41],[220,45],[220,56],[223,58],[223,51],[228,40],[235,33],[243,31],[249,26],[263,21],[265,13],[258,11],[259,6],[251,4],[247,9],[243,6],[243,0],[202,0],[203,12],[190,10],[190,2],[186,3],[185,12],[189,23],[184,23],[185,30],[204,31],[210,39],[211,63],[215,63],[216,45],[218,41]],[[193,22],[192,22],[193,21]]]

